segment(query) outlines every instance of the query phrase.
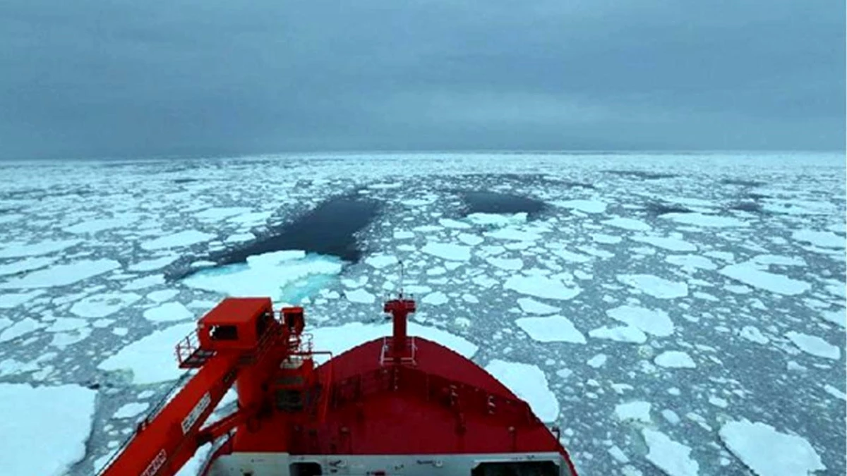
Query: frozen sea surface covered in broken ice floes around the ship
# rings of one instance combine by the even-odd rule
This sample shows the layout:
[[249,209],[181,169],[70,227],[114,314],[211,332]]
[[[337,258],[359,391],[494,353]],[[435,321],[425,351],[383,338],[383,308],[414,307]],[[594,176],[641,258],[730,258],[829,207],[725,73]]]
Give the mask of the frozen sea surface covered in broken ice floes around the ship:
[[[581,473],[844,474],[844,171],[795,153],[0,164],[0,439],[20,448],[0,468],[102,466],[223,296],[300,303],[339,352],[390,332],[402,285],[410,332],[559,424]],[[368,221],[333,225],[358,210],[339,197]]]

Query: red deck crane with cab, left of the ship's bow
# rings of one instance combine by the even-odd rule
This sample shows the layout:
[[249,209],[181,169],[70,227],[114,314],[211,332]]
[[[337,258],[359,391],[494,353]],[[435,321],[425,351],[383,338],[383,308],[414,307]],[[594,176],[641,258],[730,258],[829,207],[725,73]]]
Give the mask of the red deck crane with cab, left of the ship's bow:
[[[138,425],[100,474],[173,475],[200,446],[241,424],[260,424],[273,411],[274,392],[312,386],[312,356],[321,352],[313,352],[311,341],[303,340],[302,307],[285,307],[280,314],[280,320],[274,318],[269,298],[230,297],[201,318],[197,331],[176,346],[180,368],[198,368],[197,374]],[[292,359],[298,364],[280,365]],[[233,384],[238,387],[238,410],[202,427]]]

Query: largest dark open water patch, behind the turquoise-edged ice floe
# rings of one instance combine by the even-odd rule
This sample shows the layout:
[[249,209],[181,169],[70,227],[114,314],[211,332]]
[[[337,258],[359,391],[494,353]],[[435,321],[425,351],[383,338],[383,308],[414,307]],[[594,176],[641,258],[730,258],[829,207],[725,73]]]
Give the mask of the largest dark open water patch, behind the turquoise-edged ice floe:
[[224,252],[211,259],[219,265],[245,263],[252,255],[303,250],[340,257],[356,263],[362,252],[357,247],[356,233],[379,213],[380,204],[354,196],[334,198],[303,214],[289,224],[270,230],[268,235],[241,248]]

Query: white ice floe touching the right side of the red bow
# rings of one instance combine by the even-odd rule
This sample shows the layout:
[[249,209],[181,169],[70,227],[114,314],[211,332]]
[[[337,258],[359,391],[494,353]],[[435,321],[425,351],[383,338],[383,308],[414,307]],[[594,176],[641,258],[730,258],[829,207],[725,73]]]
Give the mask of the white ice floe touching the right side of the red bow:
[[551,422],[558,418],[559,401],[538,366],[495,359],[485,366],[485,371],[529,403],[529,407],[541,421]]

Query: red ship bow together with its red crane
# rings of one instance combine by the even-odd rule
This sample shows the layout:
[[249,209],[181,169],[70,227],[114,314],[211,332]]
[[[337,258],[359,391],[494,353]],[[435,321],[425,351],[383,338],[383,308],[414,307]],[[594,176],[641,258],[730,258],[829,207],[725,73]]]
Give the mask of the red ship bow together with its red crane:
[[[173,475],[198,446],[226,436],[233,452],[432,455],[547,452],[558,438],[526,402],[483,368],[440,344],[407,335],[415,302],[385,302],[393,335],[315,365],[302,307],[274,318],[267,298],[227,298],[177,345],[197,374],[148,417],[105,476]],[[202,428],[237,382],[239,410]]]

